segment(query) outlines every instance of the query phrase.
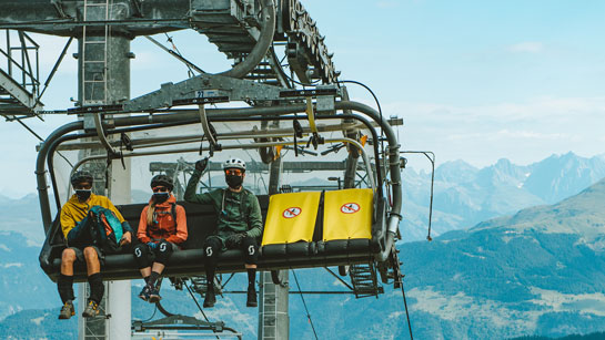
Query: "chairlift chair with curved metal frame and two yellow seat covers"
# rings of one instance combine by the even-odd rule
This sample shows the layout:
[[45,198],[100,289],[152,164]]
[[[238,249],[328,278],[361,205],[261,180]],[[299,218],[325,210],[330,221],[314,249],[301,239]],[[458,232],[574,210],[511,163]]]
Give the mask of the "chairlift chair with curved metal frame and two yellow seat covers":
[[[264,234],[271,234],[280,229],[280,218],[278,215],[283,212],[278,212],[272,205],[279,206],[280,202],[288,202],[288,195],[299,195],[296,199],[306,199],[309,195],[314,198],[309,202],[309,207],[313,208],[314,215],[307,216],[307,220],[303,225],[296,225],[295,228],[304,228],[306,235],[301,237],[296,234],[299,229],[293,230],[292,235],[279,235],[273,239],[263,237],[261,246],[261,256],[259,259],[260,270],[276,271],[280,269],[291,268],[312,268],[312,267],[329,267],[337,266],[364,266],[367,271],[380,271],[382,282],[387,282],[389,279],[395,278],[393,270],[399,270],[399,261],[393,260],[394,239],[397,233],[399,221],[401,219],[401,179],[400,179],[400,159],[399,145],[396,144],[395,135],[386,120],[382,120],[379,114],[371,107],[349,101],[335,101],[336,111],[357,111],[357,113],[335,113],[335,114],[317,114],[313,115],[316,121],[314,124],[304,124],[303,135],[312,140],[315,138],[319,148],[325,148],[320,152],[321,156],[334,157],[334,152],[346,144],[353,150],[356,150],[361,155],[362,162],[355,165],[362,167],[366,177],[366,188],[347,187],[341,190],[326,192],[310,192],[303,194],[284,193],[274,194],[273,197],[268,195],[259,195],[263,220],[265,221]],[[292,103],[273,107],[243,107],[243,109],[209,109],[205,110],[205,117],[214,125],[223,124],[232,126],[230,132],[219,132],[216,140],[220,142],[221,150],[218,151],[215,145],[196,144],[204,137],[206,127],[202,128],[202,133],[198,135],[172,135],[169,137],[147,137],[147,138],[129,138],[128,150],[120,152],[110,151],[119,146],[120,141],[124,140],[124,134],[132,132],[151,132],[154,130],[199,125],[204,117],[199,115],[198,110],[179,110],[154,113],[152,116],[147,114],[133,114],[131,116],[120,116],[119,113],[113,117],[113,126],[103,126],[94,131],[87,130],[83,121],[72,122],[57,128],[42,144],[37,162],[37,177],[40,195],[40,206],[42,210],[42,219],[47,238],[40,253],[40,265],[44,272],[52,279],[57,280],[60,272],[61,253],[65,247],[65,241],[61,233],[58,216],[54,220],[50,214],[49,193],[47,189],[46,168],[53,188],[57,210],[61,208],[60,194],[57,186],[57,174],[53,168],[53,158],[60,150],[97,150],[101,151],[97,155],[83,157],[80,162],[73,165],[71,169],[77,171],[87,163],[95,159],[123,159],[139,156],[154,155],[160,158],[165,154],[180,154],[192,152],[228,152],[235,150],[259,151],[262,148],[272,147],[298,147],[294,146],[294,128],[293,127],[271,127],[268,126],[262,131],[235,131],[234,126],[240,126],[243,123],[260,126],[263,122],[285,122],[283,126],[292,126],[293,121],[300,121],[301,114],[307,113],[307,105]],[[152,120],[150,119],[152,117]],[[150,123],[152,122],[152,123]],[[324,123],[325,122],[325,123]],[[97,122],[98,124],[100,122]],[[104,124],[103,124],[104,125]],[[313,126],[314,125],[314,126]],[[266,126],[266,125],[265,125]],[[364,130],[370,132],[370,140],[377,141],[377,132],[375,126],[380,126],[386,135],[389,146],[385,154],[379,151],[379,143],[371,143],[370,152],[362,145],[359,140],[349,137],[333,137],[334,132]],[[103,136],[99,140],[104,141],[90,142],[91,137],[99,136],[100,131],[103,131]],[[112,137],[117,136],[113,142]],[[264,138],[259,141],[259,138]],[[110,142],[111,140],[111,142]],[[322,142],[319,142],[322,141]],[[214,142],[216,143],[216,142]],[[321,143],[321,144],[320,144]],[[102,146],[105,151],[102,152]],[[325,152],[329,151],[329,152]],[[371,153],[371,154],[370,154]],[[351,153],[344,156],[349,157]],[[387,158],[386,158],[387,157]],[[373,159],[371,162],[370,159]],[[381,162],[384,161],[384,164]],[[304,164],[304,157],[296,157],[298,162]],[[346,159],[344,159],[345,162]],[[389,172],[382,171],[383,167],[390,167]],[[390,179],[384,178],[384,174],[391,176]],[[333,177],[334,174],[332,174]],[[340,175],[340,174],[339,174]],[[385,197],[385,187],[391,186],[393,197],[392,205],[389,205]],[[370,197],[366,207],[360,206],[359,203],[352,202],[353,208],[343,207],[339,210],[339,199],[344,199],[343,204],[351,203],[347,196],[357,195],[363,190],[363,197]],[[361,197],[361,196],[360,196]],[[270,203],[271,202],[271,203]],[[182,251],[177,251],[171,257],[165,276],[199,276],[204,272],[203,268],[203,251],[201,249],[204,239],[210,235],[212,226],[215,223],[214,212],[211,206],[192,205],[185,202],[179,202],[186,210],[189,239],[183,245]],[[120,205],[118,208],[137,229],[140,212],[143,203]],[[361,208],[361,209],[360,209]],[[349,235],[346,226],[333,225],[337,221],[339,215],[360,209],[360,217],[364,213],[369,217],[366,221],[361,223],[360,230],[364,230],[362,236]],[[305,208],[306,210],[306,208]],[[346,210],[346,212],[344,212]],[[369,213],[370,210],[370,213]],[[294,212],[296,213],[296,212]],[[268,216],[268,214],[271,214]],[[353,214],[350,214],[353,215]],[[355,220],[353,218],[352,220]],[[268,223],[270,221],[270,223]],[[208,226],[204,228],[203,226]],[[331,234],[332,233],[332,234]],[[219,258],[218,272],[235,272],[243,271],[243,254],[240,250],[228,250],[221,254]],[[341,274],[343,270],[341,270]],[[102,265],[103,279],[121,280],[139,278],[140,274],[137,269],[134,257],[131,254],[119,254],[105,256]],[[85,280],[84,264],[77,264],[74,268],[75,281]],[[375,279],[374,279],[375,281]],[[374,285],[375,286],[375,285]]]

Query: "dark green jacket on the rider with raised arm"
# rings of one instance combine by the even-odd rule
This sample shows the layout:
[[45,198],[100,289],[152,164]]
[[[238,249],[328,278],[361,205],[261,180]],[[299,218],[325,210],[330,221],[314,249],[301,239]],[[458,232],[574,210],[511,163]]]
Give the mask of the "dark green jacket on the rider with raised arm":
[[[193,172],[186,184],[184,198],[189,203],[211,204],[218,216],[214,235],[225,239],[230,235],[245,231],[248,236],[258,238],[263,233],[263,219],[259,199],[250,190],[233,193],[230,189],[215,189],[204,194],[195,194],[202,173]],[[223,203],[224,199],[224,203]]]

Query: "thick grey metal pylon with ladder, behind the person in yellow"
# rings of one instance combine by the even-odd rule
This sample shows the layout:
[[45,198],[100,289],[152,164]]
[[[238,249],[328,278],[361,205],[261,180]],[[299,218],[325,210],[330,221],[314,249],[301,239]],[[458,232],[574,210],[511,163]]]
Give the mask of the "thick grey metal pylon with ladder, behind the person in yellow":
[[[82,21],[118,20],[124,19],[125,13],[113,8],[113,2],[81,2]],[[79,104],[107,105],[117,104],[130,99],[130,38],[115,34],[111,28],[104,29],[83,28],[78,39],[78,89]],[[98,123],[91,125],[90,117],[82,116],[84,128],[101,131],[102,113],[99,113]],[[104,136],[98,136],[94,140]],[[105,141],[109,143],[109,141]],[[105,151],[97,151],[104,154]],[[81,153],[80,158],[91,156],[88,152]],[[107,195],[113,204],[130,204],[130,162],[124,163],[125,169],[120,163],[108,164],[105,159],[91,164],[95,176],[95,194]],[[99,181],[103,178],[107,181]],[[98,185],[100,184],[100,185]],[[132,238],[134,240],[134,236]],[[128,250],[127,250],[128,251]],[[101,271],[101,277],[103,272]],[[131,326],[131,297],[130,280],[108,281],[105,293],[99,305],[101,313],[97,318],[83,319],[79,313],[79,339],[130,339]],[[88,284],[80,289],[79,309],[85,306]]]

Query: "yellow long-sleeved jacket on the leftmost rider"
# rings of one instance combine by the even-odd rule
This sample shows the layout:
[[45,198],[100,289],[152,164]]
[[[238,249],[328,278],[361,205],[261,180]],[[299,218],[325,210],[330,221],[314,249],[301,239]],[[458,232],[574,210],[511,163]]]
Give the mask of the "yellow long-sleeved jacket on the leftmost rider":
[[80,203],[80,200],[78,200],[78,196],[72,195],[68,203],[65,203],[61,208],[61,229],[63,230],[63,236],[65,239],[68,239],[68,234],[71,229],[73,229],[73,227],[75,227],[75,224],[84,219],[88,210],[95,205],[112,210],[118,219],[120,219],[120,223],[124,221],[122,214],[120,214],[118,208],[115,208],[111,200],[109,200],[109,198],[105,196],[90,194],[89,200]]

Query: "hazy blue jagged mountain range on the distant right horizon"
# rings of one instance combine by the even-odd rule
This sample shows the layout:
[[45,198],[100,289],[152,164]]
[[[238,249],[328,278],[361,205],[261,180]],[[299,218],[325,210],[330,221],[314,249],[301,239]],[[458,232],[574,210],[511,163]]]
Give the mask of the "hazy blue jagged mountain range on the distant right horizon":
[[[493,217],[575,195],[605,177],[605,156],[552,155],[530,165],[503,158],[476,168],[464,161],[435,169],[432,234],[466,229]],[[402,172],[405,241],[426,238],[431,174]]]

